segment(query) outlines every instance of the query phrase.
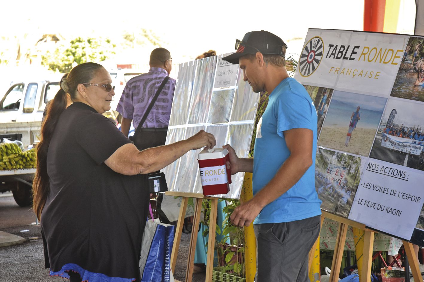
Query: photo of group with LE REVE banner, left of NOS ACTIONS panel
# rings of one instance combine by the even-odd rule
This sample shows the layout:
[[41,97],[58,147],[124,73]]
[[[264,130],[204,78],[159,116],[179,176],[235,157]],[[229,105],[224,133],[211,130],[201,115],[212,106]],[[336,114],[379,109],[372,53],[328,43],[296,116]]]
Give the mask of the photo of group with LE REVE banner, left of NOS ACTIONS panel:
[[359,185],[361,158],[318,148],[315,162],[315,189],[321,209],[348,217]]

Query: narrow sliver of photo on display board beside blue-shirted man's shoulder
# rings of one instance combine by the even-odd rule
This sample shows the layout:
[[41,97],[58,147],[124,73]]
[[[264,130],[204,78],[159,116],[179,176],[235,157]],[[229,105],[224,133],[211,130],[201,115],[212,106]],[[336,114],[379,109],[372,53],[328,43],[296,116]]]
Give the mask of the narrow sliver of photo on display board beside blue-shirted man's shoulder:
[[308,91],[309,95],[312,98],[312,101],[315,105],[315,110],[317,111],[317,138],[321,132],[321,126],[324,122],[325,115],[327,113],[328,107],[330,105],[331,97],[333,96],[333,90],[331,88],[318,87],[303,85]]

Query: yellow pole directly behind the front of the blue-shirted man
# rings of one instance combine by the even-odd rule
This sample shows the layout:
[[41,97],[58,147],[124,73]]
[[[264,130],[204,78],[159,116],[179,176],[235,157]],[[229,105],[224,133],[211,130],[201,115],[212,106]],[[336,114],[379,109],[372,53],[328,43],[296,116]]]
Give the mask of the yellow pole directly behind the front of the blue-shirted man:
[[[240,200],[244,203],[253,198],[252,174],[246,172],[243,179],[243,189]],[[253,282],[256,274],[256,237],[253,224],[244,227],[244,257],[246,282]]]

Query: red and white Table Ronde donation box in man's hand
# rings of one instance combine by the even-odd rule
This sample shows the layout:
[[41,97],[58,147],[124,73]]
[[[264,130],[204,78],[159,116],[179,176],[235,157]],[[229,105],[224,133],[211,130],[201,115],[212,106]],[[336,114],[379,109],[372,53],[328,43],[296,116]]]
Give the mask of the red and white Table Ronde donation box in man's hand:
[[226,162],[230,161],[228,150],[217,148],[209,151],[204,149],[198,154],[203,194],[227,194],[231,184],[231,171],[226,166]]

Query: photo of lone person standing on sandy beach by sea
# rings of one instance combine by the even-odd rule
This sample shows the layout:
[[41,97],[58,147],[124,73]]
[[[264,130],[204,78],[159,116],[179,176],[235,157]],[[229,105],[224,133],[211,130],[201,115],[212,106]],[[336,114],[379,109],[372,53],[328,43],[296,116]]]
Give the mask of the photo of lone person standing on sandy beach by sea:
[[318,145],[368,156],[387,99],[335,90]]

